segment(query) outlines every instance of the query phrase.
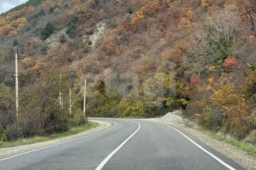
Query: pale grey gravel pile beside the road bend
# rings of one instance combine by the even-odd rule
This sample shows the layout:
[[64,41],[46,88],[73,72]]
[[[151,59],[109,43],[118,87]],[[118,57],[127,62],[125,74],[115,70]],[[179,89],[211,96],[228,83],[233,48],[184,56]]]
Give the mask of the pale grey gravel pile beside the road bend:
[[181,117],[182,114],[183,112],[181,110],[169,112],[163,117],[161,117],[160,119],[158,119],[158,121],[169,123],[169,124],[184,125],[185,121]]

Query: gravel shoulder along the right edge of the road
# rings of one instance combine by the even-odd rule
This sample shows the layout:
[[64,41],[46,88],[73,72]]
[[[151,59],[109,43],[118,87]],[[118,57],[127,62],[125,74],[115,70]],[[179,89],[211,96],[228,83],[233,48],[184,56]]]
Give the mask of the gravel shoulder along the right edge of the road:
[[191,135],[196,137],[198,140],[202,141],[203,143],[211,147],[212,149],[234,160],[236,163],[240,164],[244,168],[248,170],[256,170],[256,159],[253,156],[228,143],[225,143],[223,141],[218,141],[217,139],[212,139],[207,134],[200,132],[196,129],[186,127],[185,125],[163,121],[161,118],[151,118],[151,119],[145,119],[145,120],[168,123],[173,127],[186,131],[187,133],[190,133]]

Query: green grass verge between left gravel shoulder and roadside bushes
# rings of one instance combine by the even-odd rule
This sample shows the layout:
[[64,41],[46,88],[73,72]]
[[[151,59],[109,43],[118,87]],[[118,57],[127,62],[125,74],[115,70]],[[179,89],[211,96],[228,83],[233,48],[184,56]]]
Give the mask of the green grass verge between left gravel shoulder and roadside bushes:
[[15,141],[10,141],[10,142],[0,142],[0,149],[1,148],[8,148],[8,147],[16,147],[19,145],[28,145],[28,144],[33,144],[33,143],[38,143],[38,142],[44,142],[44,141],[49,141],[49,140],[54,140],[54,139],[60,139],[62,137],[67,137],[70,135],[74,135],[83,131],[87,131],[89,129],[98,127],[99,124],[96,122],[89,122],[86,125],[80,125],[76,127],[72,127],[66,132],[59,132],[59,133],[54,133],[50,136],[46,137],[31,137],[31,138],[22,138],[22,139],[17,139]]

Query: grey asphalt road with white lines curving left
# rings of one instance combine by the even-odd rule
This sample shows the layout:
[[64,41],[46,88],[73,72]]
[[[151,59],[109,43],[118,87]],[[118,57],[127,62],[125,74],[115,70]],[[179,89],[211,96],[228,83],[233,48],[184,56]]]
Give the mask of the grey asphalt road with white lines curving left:
[[1,160],[0,170],[244,169],[171,126],[138,119],[95,119],[113,125],[82,139]]

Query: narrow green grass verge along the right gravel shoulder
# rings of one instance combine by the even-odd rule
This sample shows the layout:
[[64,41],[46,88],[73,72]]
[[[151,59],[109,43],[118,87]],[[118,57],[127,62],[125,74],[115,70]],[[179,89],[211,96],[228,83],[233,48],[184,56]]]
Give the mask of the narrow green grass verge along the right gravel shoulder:
[[236,147],[244,152],[247,152],[248,154],[251,154],[254,158],[256,158],[256,147],[249,143],[246,143],[244,141],[237,141],[234,139],[228,139],[226,137],[216,135],[208,130],[203,130],[203,129],[198,129],[198,128],[194,128],[194,129],[201,131],[202,133],[210,136],[212,139],[216,139],[218,141],[222,141],[222,142],[228,143],[230,145],[233,145],[234,147]]

